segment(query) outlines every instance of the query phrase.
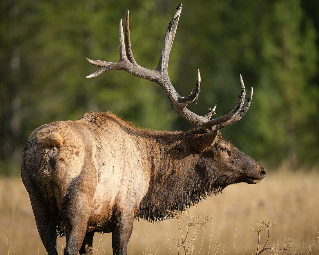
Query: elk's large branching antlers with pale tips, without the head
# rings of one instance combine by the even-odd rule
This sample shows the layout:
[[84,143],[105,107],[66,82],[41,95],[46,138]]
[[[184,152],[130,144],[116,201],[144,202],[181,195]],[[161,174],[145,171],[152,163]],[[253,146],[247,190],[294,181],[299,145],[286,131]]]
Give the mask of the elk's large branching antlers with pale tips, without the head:
[[213,107],[213,109],[210,109],[209,112],[204,116],[197,115],[196,113],[193,113],[186,108],[186,106],[189,105],[191,102],[193,102],[199,95],[200,74],[198,70],[196,87],[194,91],[189,96],[186,96],[186,97],[181,97],[176,92],[176,90],[174,89],[168,77],[168,73],[167,73],[168,58],[173,45],[173,40],[175,37],[178,20],[181,15],[182,4],[179,4],[176,9],[177,11],[174,15],[174,18],[171,20],[166,30],[162,54],[159,58],[159,64],[156,67],[156,69],[150,70],[150,69],[141,67],[137,64],[137,62],[134,59],[132,49],[131,49],[131,42],[130,42],[130,27],[129,27],[130,14],[129,14],[129,10],[127,10],[126,18],[125,18],[125,34],[123,34],[122,19],[120,21],[120,59],[119,61],[114,63],[114,62],[105,62],[101,60],[94,61],[94,60],[90,60],[86,58],[89,63],[95,66],[102,67],[101,69],[87,76],[86,78],[96,77],[100,75],[101,73],[104,73],[109,70],[114,70],[114,69],[124,70],[137,77],[141,77],[143,79],[151,80],[158,83],[167,93],[168,97],[170,98],[174,106],[175,111],[179,115],[181,115],[184,119],[192,123],[195,127],[203,128],[205,132],[210,132],[212,130],[225,128],[237,122],[238,120],[240,120],[242,116],[244,116],[245,113],[248,111],[251,98],[253,95],[253,88],[251,87],[251,91],[250,91],[249,97],[247,98],[247,102],[244,108],[241,109],[244,104],[246,90],[245,90],[245,85],[240,76],[241,93],[238,96],[239,101],[236,104],[235,108],[230,113],[212,120],[210,118],[216,109],[216,104]]

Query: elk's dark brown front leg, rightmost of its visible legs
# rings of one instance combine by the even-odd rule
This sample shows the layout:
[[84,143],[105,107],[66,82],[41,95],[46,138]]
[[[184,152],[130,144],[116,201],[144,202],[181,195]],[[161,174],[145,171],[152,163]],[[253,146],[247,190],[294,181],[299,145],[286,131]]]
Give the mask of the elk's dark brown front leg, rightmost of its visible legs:
[[114,255],[126,255],[127,244],[133,230],[133,222],[133,212],[116,217],[114,230],[112,231],[112,248]]

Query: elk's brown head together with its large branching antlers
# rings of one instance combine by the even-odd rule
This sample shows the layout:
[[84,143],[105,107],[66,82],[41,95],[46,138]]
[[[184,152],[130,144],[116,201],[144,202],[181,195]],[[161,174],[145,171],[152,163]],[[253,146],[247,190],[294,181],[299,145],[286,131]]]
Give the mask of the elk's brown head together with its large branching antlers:
[[199,70],[197,70],[196,87],[194,91],[186,97],[181,97],[177,93],[168,77],[168,58],[181,15],[182,4],[179,4],[176,9],[177,11],[174,18],[171,20],[166,30],[162,53],[156,69],[150,70],[141,67],[134,59],[130,43],[129,11],[127,10],[125,18],[125,33],[123,33],[122,19],[120,20],[119,61],[114,63],[100,60],[93,61],[86,58],[89,63],[102,67],[98,71],[87,76],[87,78],[96,77],[109,70],[120,69],[129,72],[134,76],[156,82],[167,93],[175,111],[184,119],[192,123],[195,127],[200,128],[204,133],[206,133],[201,135],[198,141],[194,144],[197,153],[199,153],[196,168],[202,169],[209,175],[209,173],[212,172],[216,174],[216,171],[213,171],[213,168],[218,167],[218,174],[221,179],[223,179],[226,186],[228,184],[238,182],[255,184],[264,178],[266,171],[257,161],[241,152],[230,142],[224,140],[219,132],[221,128],[234,124],[247,113],[253,96],[253,88],[251,87],[247,102],[244,105],[246,89],[240,75],[241,92],[238,95],[239,101],[236,106],[230,113],[212,120],[211,117],[215,113],[216,104],[212,109],[209,109],[209,112],[204,116],[197,115],[187,109],[186,106],[193,102],[199,95],[201,77]]

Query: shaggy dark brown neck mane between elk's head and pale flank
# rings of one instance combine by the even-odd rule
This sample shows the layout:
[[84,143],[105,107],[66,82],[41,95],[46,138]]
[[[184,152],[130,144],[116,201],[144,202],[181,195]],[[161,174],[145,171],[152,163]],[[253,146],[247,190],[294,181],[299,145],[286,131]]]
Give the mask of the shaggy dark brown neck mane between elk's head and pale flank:
[[[145,130],[143,130],[145,134]],[[167,211],[184,210],[222,188],[202,170],[196,169],[198,153],[193,141],[203,132],[146,131],[151,164],[150,184],[136,217],[150,221],[164,220]],[[151,139],[150,139],[151,138]]]

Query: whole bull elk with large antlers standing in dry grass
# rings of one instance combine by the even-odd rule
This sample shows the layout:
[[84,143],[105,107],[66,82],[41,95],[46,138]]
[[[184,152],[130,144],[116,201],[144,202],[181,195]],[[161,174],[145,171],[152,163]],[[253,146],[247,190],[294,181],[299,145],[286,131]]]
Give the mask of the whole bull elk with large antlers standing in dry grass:
[[57,230],[66,236],[64,254],[85,254],[94,232],[111,232],[113,254],[126,254],[134,219],[164,220],[170,210],[183,210],[218,194],[227,185],[258,183],[265,177],[261,164],[222,138],[219,129],[240,120],[245,86],[235,108],[211,119],[186,107],[200,92],[200,74],[194,91],[181,97],[168,74],[168,57],[182,4],[165,34],[156,69],[141,67],[130,44],[129,11],[125,33],[120,21],[118,62],[87,61],[102,67],[88,77],[121,69],[158,83],[174,109],[196,128],[187,132],[159,132],[135,128],[112,113],[85,113],[76,121],[42,125],[30,135],[22,154],[21,177],[29,193],[35,222],[49,254],[56,250]]

